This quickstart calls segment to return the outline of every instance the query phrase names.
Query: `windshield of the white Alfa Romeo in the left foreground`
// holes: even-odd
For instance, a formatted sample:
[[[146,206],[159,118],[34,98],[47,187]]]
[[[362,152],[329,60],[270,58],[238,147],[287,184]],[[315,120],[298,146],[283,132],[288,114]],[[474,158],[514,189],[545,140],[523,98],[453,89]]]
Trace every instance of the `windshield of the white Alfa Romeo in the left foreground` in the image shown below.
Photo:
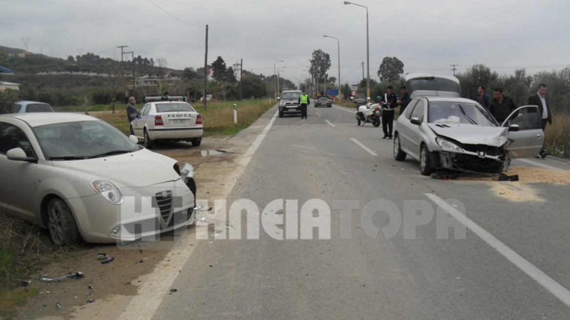
[[[103,121],[66,122],[38,126],[33,130],[48,160],[107,157],[141,149]]]

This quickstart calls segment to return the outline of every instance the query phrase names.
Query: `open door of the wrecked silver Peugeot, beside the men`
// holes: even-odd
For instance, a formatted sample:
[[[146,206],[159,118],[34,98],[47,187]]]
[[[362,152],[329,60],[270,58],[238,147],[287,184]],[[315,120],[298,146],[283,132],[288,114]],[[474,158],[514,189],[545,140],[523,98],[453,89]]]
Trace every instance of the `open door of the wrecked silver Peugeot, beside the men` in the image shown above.
[[[540,126],[541,117],[536,105],[525,105],[514,110],[503,126],[518,125],[518,131],[510,131],[507,138],[511,144],[507,147],[511,159],[533,158],[544,143],[544,132]]]

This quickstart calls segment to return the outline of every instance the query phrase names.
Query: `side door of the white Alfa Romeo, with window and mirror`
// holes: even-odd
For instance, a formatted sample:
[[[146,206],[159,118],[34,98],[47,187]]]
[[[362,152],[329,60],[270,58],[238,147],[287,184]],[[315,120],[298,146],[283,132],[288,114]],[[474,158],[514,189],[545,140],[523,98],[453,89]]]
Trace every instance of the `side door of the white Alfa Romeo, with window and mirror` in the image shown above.
[[[37,164],[9,160],[10,149],[22,148],[28,157],[36,158],[26,133],[17,125],[0,122],[0,207],[28,220],[35,219],[35,175]]]

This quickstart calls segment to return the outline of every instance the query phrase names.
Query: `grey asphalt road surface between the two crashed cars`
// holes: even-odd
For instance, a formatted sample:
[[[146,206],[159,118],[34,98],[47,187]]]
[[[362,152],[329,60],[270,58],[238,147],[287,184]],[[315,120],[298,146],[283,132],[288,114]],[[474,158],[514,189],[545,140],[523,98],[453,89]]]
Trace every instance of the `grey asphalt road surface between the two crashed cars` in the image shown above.
[[[210,232],[153,319],[570,319],[568,184],[531,184],[540,200],[507,200],[492,184],[508,182],[421,176],[417,162],[394,161],[393,141],[381,136],[336,106],[311,106],[308,120],[276,118],[227,199],[228,207],[250,199],[262,220],[276,221],[273,228],[247,240],[244,215],[242,240]],[[570,170],[554,159],[530,160],[512,165]],[[330,222],[323,210],[318,232],[282,227],[279,219],[297,215],[262,212],[278,199],[291,207],[296,200],[300,211],[320,199]],[[378,199],[372,207],[383,212],[367,219],[362,209]],[[341,215],[339,200],[357,210]],[[302,229],[311,216],[300,218]],[[391,232],[398,219],[395,234],[376,229]],[[275,239],[283,232],[303,239]]]

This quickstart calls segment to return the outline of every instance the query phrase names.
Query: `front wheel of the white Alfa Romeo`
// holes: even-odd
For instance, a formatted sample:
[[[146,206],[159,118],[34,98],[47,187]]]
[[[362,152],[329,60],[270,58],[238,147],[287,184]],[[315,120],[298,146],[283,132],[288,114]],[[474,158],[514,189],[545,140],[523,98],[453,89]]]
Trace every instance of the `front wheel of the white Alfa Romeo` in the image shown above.
[[[82,240],[70,208],[60,198],[47,204],[47,229],[51,242],[59,247],[76,245]]]

